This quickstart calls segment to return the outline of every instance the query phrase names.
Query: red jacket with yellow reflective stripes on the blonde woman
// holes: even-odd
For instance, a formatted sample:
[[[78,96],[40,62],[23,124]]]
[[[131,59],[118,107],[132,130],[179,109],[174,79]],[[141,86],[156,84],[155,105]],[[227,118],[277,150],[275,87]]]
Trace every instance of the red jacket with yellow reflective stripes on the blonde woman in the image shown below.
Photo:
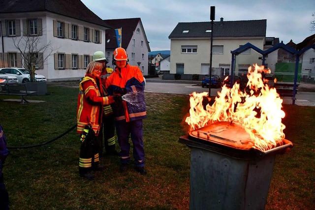
[[[114,102],[113,96],[104,96],[101,79],[86,74],[79,84],[77,105],[77,133],[82,134],[86,125],[91,124],[97,136],[101,126],[103,105]]]

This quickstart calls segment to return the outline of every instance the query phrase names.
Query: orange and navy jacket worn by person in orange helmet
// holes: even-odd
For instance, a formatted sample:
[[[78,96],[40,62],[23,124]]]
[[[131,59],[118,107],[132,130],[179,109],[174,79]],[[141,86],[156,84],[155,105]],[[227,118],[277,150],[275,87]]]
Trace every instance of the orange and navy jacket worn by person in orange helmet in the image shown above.
[[[147,117],[144,98],[144,78],[137,66],[127,64],[126,67],[115,71],[107,78],[106,90],[113,95],[118,88],[126,88],[133,103],[122,101],[116,106],[115,120],[140,120]]]

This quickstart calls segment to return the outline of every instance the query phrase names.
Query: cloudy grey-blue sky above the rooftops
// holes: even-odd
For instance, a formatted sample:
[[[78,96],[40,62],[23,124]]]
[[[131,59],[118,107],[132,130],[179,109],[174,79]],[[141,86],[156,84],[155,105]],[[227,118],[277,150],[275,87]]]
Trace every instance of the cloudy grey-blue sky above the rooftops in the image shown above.
[[[170,50],[169,34],[179,22],[267,19],[266,36],[285,44],[303,41],[315,33],[315,0],[82,0],[101,19],[141,18],[151,51]],[[124,37],[124,32],[122,34]]]

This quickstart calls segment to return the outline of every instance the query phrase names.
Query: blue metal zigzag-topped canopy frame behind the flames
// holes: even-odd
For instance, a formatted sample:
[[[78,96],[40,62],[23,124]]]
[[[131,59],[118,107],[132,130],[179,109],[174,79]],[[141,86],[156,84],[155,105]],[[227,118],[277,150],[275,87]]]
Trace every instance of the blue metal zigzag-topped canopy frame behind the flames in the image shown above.
[[[283,42],[273,46],[272,48],[263,51],[259,48],[257,48],[256,46],[252,45],[251,43],[247,43],[239,48],[237,48],[236,50],[231,51],[232,54],[232,62],[231,62],[231,75],[234,75],[234,67],[235,67],[235,57],[241,53],[243,53],[244,51],[248,50],[248,49],[253,49],[255,50],[257,53],[262,55],[262,65],[265,65],[265,58],[268,54],[282,48],[285,51],[293,54],[294,56],[296,56],[296,60],[295,60],[295,71],[294,71],[294,85],[293,85],[293,95],[292,95],[292,104],[295,104],[295,92],[296,92],[296,85],[297,85],[297,74],[298,74],[298,67],[299,67],[299,60],[300,60],[300,56],[305,53],[306,51],[308,51],[309,49],[313,48],[315,49],[315,44],[305,47],[300,51],[297,51],[287,45],[285,45]],[[230,77],[231,83],[233,84],[233,76]]]

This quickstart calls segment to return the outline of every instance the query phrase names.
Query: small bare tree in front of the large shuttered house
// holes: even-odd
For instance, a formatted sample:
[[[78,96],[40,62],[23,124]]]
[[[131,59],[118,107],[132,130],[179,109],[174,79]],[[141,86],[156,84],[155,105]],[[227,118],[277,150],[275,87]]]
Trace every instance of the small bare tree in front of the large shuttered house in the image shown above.
[[[22,56],[22,66],[30,71],[30,82],[36,82],[35,70],[41,68],[44,62],[51,56],[54,49],[51,41],[41,42],[42,35],[22,35],[13,37],[14,46]]]

